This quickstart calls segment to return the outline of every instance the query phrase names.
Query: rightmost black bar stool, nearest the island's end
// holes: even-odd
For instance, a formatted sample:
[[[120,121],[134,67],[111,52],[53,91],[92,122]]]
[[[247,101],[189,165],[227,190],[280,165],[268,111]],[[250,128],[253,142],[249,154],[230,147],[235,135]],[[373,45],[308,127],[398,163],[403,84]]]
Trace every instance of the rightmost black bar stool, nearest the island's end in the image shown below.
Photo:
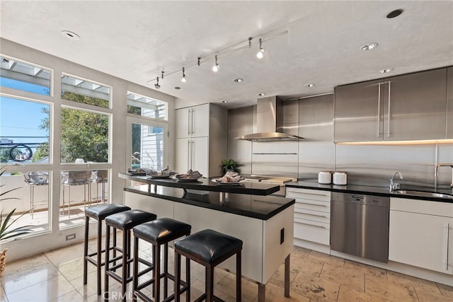
[[[214,267],[236,254],[236,301],[241,301],[241,250],[242,240],[217,231],[204,230],[175,242],[175,301],[180,301],[181,255],[203,265],[206,270],[205,294],[195,301],[222,301],[214,296]],[[189,274],[190,275],[190,274]],[[188,277],[190,278],[190,276]],[[190,279],[188,279],[190,280]],[[190,282],[188,283],[188,299]],[[189,300],[188,300],[189,301]]]

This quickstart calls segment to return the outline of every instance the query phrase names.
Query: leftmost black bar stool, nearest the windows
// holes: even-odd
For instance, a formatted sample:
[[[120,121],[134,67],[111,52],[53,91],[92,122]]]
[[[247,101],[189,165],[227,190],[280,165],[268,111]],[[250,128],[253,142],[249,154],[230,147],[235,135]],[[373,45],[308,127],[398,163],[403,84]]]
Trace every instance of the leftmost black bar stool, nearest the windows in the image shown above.
[[[98,295],[101,295],[101,267],[105,265],[105,262],[101,262],[101,255],[105,250],[102,249],[102,221],[105,217],[120,213],[122,211],[130,210],[130,207],[126,207],[122,204],[100,204],[96,207],[91,207],[85,210],[85,243],[84,243],[84,284],[87,284],[88,267],[87,262],[96,266],[97,281],[98,281]],[[98,221],[98,247],[96,252],[88,254],[88,231],[90,218]],[[113,233],[113,257],[116,257],[116,251],[122,252],[120,248],[116,246],[116,233]],[[96,256],[96,260],[92,257]]]

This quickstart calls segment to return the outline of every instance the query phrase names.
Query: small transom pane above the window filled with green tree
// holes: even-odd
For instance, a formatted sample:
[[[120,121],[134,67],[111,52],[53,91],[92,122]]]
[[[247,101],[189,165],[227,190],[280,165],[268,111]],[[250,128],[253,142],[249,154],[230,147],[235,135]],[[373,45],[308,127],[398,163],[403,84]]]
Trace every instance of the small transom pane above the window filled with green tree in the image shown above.
[[[110,88],[62,74],[62,99],[109,108]]]

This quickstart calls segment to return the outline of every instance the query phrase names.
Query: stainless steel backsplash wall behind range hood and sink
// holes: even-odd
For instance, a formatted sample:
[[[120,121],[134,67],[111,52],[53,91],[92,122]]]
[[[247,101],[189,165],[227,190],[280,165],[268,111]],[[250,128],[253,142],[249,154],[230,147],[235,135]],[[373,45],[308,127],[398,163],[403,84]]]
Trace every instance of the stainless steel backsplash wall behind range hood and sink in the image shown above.
[[[333,144],[333,95],[284,102],[285,125],[299,129],[304,141],[251,143],[234,139],[249,134],[254,106],[229,110],[228,156],[241,163],[241,173],[317,180],[319,170],[348,173],[348,184],[386,187],[395,171],[401,186],[432,187],[436,163],[453,163],[453,144],[349,145]],[[299,112],[298,122],[294,112]],[[284,118],[285,119],[285,118]],[[296,154],[294,154],[296,153]],[[451,172],[439,170],[438,184],[449,188]]]

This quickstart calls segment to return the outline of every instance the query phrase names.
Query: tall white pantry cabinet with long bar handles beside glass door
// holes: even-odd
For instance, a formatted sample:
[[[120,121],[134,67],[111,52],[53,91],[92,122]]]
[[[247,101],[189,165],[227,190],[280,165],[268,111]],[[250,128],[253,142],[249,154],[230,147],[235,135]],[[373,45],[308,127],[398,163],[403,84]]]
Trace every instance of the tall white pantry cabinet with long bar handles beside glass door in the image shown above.
[[[228,112],[215,104],[176,110],[176,171],[198,170],[205,177],[222,172],[227,155]]]

